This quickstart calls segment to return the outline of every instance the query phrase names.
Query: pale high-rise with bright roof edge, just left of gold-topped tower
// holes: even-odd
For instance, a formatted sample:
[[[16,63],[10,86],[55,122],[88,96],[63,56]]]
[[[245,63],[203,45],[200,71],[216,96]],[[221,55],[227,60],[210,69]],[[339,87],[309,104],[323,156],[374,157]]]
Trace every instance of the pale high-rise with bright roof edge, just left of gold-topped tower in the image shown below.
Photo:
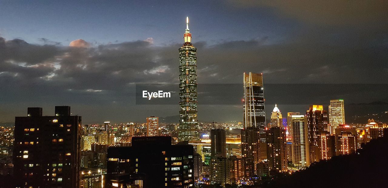
[[[307,117],[303,115],[291,115],[292,128],[292,162],[294,166],[310,166],[308,150],[308,125]]]

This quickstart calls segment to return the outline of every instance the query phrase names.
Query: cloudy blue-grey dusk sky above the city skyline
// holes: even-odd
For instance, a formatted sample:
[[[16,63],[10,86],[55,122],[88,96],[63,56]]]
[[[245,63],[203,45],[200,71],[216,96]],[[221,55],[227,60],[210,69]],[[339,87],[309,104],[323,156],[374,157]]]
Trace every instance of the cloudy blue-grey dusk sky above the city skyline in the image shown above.
[[[177,103],[140,105],[134,93],[136,84],[178,83],[186,16],[199,84],[241,84],[244,72],[262,72],[264,87],[377,84],[356,94],[326,85],[303,96],[306,103],[290,87],[271,87],[267,116],[276,101],[283,115],[304,114],[309,103],[327,108],[329,99],[388,102],[387,12],[379,0],[0,0],[0,121],[26,116],[27,107],[54,115],[55,105],[71,106],[84,124],[178,115]],[[226,87],[220,97],[242,92]],[[198,101],[200,121],[242,119],[242,105],[201,104],[201,93]],[[351,108],[360,107],[345,106],[347,116],[377,110]]]

